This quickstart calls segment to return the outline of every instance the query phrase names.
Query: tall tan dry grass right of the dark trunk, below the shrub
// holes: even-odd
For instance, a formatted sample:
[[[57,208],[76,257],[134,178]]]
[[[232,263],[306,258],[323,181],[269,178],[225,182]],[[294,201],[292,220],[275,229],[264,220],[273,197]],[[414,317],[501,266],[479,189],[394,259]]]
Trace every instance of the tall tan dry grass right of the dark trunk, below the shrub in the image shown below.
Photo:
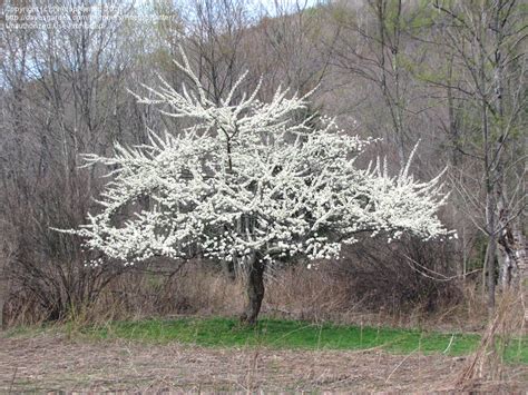
[[[427,303],[382,304],[373,308],[368,294],[361,294],[346,276],[332,269],[290,268],[268,278],[263,310],[282,318],[341,324],[427,328],[432,330],[480,332],[487,319],[486,305],[472,284],[461,285],[463,297],[456,304],[430,312]]]

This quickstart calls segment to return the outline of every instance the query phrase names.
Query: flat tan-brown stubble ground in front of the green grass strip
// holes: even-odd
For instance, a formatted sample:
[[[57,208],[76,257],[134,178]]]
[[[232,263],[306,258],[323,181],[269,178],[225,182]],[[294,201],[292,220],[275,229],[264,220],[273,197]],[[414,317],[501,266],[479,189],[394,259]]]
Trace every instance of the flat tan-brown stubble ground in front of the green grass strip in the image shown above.
[[[0,392],[431,392],[454,389],[451,383],[463,363],[463,358],[397,356],[379,349],[218,349],[42,334],[0,338]],[[481,388],[507,393],[528,388],[528,367],[512,366],[505,375],[505,382]]]

